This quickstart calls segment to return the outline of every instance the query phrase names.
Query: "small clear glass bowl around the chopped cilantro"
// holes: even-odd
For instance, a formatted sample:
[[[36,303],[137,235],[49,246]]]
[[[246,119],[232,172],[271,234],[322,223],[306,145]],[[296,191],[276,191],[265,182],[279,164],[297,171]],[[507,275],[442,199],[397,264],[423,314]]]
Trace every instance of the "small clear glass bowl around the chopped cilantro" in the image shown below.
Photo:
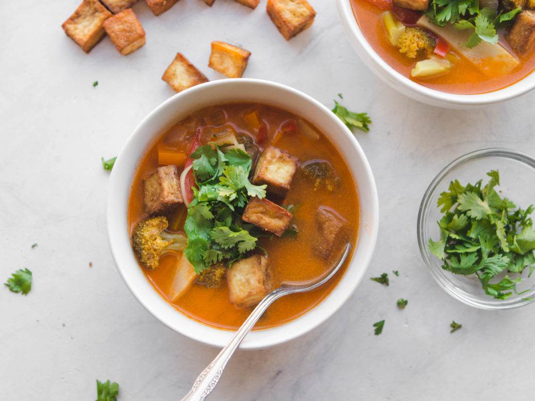
[[[529,269],[522,273],[524,279],[517,285],[522,294],[511,295],[506,300],[496,300],[485,294],[475,274],[463,276],[442,269],[442,261],[435,257],[427,243],[430,238],[438,240],[440,230],[437,222],[442,217],[437,207],[440,193],[447,191],[449,183],[458,179],[462,185],[476,183],[483,179],[484,184],[490,179],[486,174],[499,170],[501,196],[506,196],[517,207],[527,208],[535,204],[535,159],[525,153],[509,149],[491,148],[468,153],[450,163],[433,180],[424,194],[418,213],[418,246],[425,264],[438,284],[457,300],[480,309],[511,309],[527,305],[535,300],[535,273],[528,278]],[[487,179],[488,178],[488,179]],[[511,277],[517,277],[511,273]]]

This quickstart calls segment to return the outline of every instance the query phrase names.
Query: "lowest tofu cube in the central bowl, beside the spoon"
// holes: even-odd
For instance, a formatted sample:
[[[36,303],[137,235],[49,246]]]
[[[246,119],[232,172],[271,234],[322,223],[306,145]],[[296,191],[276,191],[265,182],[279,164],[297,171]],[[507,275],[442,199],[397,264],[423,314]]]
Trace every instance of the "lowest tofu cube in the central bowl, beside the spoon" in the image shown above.
[[[262,301],[272,291],[268,257],[253,255],[232,264],[227,272],[228,298],[236,308],[247,308]]]

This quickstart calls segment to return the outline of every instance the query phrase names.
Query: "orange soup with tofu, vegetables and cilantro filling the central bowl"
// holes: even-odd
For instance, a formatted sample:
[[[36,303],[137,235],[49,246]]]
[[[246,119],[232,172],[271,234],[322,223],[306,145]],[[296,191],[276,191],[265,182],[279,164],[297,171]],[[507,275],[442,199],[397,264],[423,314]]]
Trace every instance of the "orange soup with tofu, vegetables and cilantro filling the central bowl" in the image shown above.
[[[353,177],[337,149],[283,109],[210,106],[151,145],[128,205],[140,268],[186,316],[239,327],[282,281],[324,273],[358,234]],[[342,272],[274,302],[256,328],[284,324],[321,302]]]

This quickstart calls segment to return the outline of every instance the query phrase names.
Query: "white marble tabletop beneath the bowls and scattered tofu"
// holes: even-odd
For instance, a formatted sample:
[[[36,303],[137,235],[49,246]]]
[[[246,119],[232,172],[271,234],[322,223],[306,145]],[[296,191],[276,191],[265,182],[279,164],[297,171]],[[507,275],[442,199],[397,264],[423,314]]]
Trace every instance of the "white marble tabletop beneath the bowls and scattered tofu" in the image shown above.
[[[246,77],[327,106],[342,92],[351,109],[370,113],[371,132],[356,136],[375,171],[381,221],[366,277],[400,271],[389,287],[366,278],[314,332],[239,352],[212,399],[533,399],[533,306],[486,312],[448,296],[419,256],[416,217],[426,186],[456,156],[489,146],[535,153],[535,93],[479,111],[418,104],[357,58],[334,2],[310,2],[314,26],[286,42],[265,0],[255,11],[181,0],[158,18],[140,1],[147,45],[128,57],[108,38],[87,55],[64,35],[78,0],[0,3],[9,15],[0,28],[0,279],[34,273],[26,297],[0,288],[0,399],[91,400],[98,378],[120,383],[121,400],[175,400],[215,356],[159,323],[123,284],[106,239],[100,164],[173,95],[160,77],[175,52],[221,78],[206,66],[212,40],[253,52]],[[399,297],[409,300],[402,312]],[[384,332],[374,336],[380,319]],[[452,319],[463,324],[454,334]]]

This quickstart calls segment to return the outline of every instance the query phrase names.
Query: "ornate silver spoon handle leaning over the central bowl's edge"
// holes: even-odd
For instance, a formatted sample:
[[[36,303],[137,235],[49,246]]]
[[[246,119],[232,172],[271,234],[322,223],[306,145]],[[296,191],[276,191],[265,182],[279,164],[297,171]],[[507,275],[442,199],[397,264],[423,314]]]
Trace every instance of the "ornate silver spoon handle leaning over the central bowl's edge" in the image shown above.
[[[284,288],[277,288],[272,293],[266,295],[264,299],[251,312],[249,317],[243,322],[241,327],[236,331],[232,340],[225,345],[225,348],[219,352],[217,357],[210,362],[210,364],[198,375],[197,380],[193,383],[193,387],[188,394],[181,401],[203,401],[216,388],[221,374],[231,359],[234,351],[243,341],[243,338],[249,333],[251,328],[256,324],[258,319],[262,316],[268,306],[281,296],[286,295],[287,290]]]

